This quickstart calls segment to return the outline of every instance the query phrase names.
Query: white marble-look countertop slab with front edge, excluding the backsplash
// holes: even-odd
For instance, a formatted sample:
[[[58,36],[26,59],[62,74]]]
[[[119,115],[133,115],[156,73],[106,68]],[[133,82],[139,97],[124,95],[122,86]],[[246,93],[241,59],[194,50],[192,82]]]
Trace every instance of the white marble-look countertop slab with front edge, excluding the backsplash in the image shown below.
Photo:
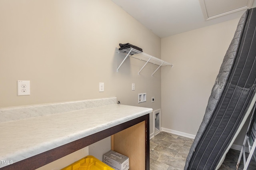
[[[13,163],[114,127],[152,109],[106,105],[0,123],[0,160]],[[0,162],[0,168],[7,166]]]

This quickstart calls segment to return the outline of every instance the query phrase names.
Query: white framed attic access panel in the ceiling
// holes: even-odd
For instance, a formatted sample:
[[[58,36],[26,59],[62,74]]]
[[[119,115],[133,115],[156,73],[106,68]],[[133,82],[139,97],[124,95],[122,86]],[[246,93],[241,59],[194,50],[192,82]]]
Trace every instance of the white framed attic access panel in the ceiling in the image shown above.
[[[254,0],[199,0],[205,20],[252,7]]]

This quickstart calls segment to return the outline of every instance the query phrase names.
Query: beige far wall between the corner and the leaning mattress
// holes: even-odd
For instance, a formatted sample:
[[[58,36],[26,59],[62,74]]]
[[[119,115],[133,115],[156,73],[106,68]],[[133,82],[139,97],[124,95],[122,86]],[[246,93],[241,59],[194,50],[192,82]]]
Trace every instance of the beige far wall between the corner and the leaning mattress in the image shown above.
[[[162,127],[196,134],[238,21],[162,38]]]

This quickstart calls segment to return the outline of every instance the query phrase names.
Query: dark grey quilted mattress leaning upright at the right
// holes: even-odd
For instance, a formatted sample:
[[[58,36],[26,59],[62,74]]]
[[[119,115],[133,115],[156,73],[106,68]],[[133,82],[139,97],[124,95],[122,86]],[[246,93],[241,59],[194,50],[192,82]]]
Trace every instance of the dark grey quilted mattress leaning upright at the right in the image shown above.
[[[184,170],[214,170],[248,112],[256,87],[256,8],[244,12],[224,56]],[[218,49],[216,49],[218,50]]]

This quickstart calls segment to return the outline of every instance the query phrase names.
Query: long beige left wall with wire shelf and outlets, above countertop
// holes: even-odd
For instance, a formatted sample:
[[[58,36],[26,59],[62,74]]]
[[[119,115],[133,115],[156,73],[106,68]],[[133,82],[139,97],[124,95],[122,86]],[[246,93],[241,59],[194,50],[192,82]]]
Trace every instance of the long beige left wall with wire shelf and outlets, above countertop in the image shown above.
[[[116,96],[121,104],[160,109],[156,65],[138,75],[144,62],[128,58],[116,72],[125,55],[115,51],[128,42],[160,58],[160,38],[111,0],[1,0],[0,107]],[[17,96],[17,80],[30,80],[30,96]],[[146,103],[138,104],[138,93],[147,93]]]

